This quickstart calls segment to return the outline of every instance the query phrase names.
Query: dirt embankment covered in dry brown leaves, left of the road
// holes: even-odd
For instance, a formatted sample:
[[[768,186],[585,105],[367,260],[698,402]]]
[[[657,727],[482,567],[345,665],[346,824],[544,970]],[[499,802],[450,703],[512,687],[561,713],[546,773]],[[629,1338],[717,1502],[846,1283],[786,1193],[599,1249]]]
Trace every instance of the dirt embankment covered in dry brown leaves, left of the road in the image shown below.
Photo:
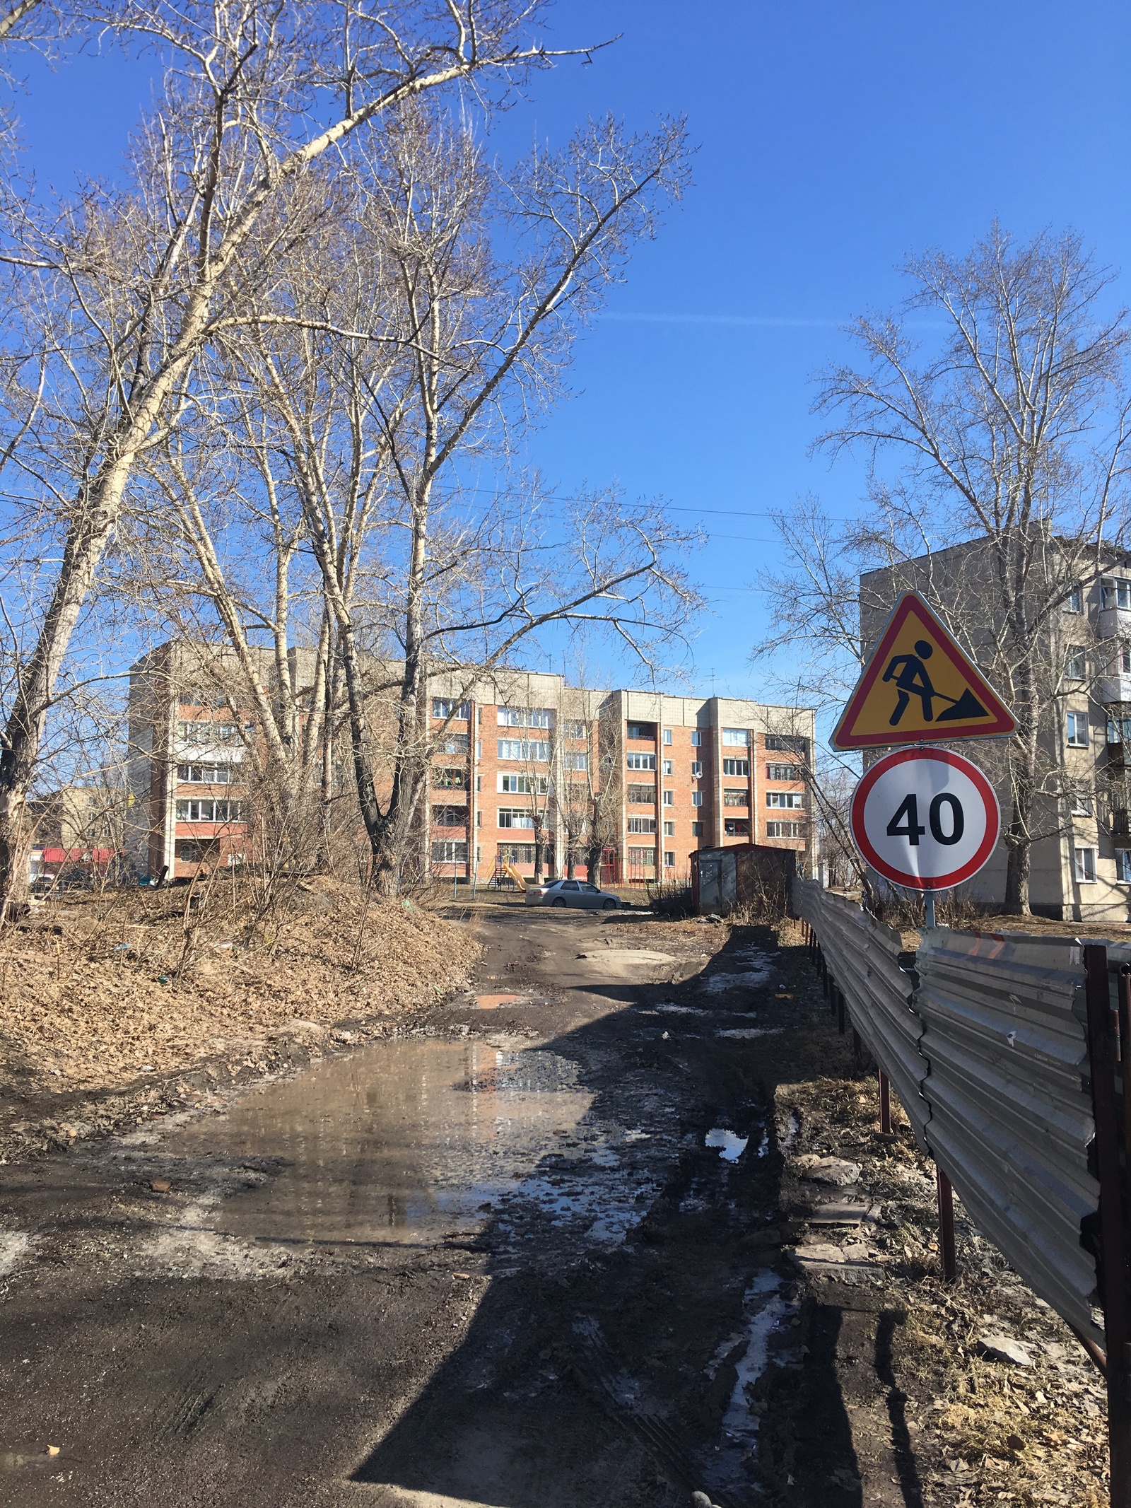
[[[330,879],[270,926],[184,890],[35,908],[0,932],[0,1157],[69,1145],[309,1060],[466,983],[470,930]]]

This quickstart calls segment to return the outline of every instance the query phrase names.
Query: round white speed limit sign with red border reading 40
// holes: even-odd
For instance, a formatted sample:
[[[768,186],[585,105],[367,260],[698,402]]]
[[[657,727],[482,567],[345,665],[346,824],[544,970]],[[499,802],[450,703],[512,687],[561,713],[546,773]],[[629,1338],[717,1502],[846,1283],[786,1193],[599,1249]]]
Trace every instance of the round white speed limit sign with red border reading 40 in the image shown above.
[[[852,838],[885,879],[947,890],[977,875],[994,852],[1001,816],[994,787],[947,749],[896,749],[852,793]]]

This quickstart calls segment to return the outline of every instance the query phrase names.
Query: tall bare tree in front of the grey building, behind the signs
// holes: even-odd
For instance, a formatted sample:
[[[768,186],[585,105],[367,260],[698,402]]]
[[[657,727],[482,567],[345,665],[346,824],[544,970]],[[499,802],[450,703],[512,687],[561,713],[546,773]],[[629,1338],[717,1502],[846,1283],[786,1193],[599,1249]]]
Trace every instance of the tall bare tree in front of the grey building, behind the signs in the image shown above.
[[[906,273],[902,314],[851,327],[864,365],[826,371],[817,400],[834,421],[817,443],[866,455],[872,510],[837,526],[810,502],[780,520],[792,569],[766,582],[777,627],[760,651],[805,644],[843,686],[894,596],[923,591],[1018,719],[1004,905],[1027,914],[1031,844],[1059,820],[1057,614],[1122,553],[1131,329],[1104,312],[1111,273],[1071,234],[1016,244],[994,226],[967,256]],[[927,351],[924,311],[941,321]]]

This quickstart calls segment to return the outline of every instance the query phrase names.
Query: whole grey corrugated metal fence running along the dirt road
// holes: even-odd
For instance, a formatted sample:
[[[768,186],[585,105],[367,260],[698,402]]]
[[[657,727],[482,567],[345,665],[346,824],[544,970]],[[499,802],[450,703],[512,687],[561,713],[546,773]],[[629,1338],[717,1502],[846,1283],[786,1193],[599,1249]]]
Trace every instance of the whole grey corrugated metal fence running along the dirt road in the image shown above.
[[[814,881],[793,882],[852,1025],[888,1075],[920,1145],[979,1231],[1098,1345],[1096,1264],[1081,1246],[1099,1184],[1084,958],[1074,938],[935,927],[899,933]]]

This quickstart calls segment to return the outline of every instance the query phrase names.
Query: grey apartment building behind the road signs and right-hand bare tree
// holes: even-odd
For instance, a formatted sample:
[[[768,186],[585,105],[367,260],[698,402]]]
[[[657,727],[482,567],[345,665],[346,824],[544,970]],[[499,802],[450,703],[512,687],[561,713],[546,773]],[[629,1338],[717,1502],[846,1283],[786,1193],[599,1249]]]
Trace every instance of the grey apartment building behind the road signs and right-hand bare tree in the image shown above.
[[[861,576],[866,650],[879,639],[899,593],[918,588],[929,600],[962,602],[977,657],[979,636],[989,641],[994,632],[970,606],[986,561],[985,543],[974,540]],[[1125,923],[1131,920],[1131,559],[1120,564],[1113,556],[1108,570],[1081,581],[1039,632],[1056,692],[1054,716],[1041,736],[1050,789],[1034,810],[1033,828],[1042,835],[1031,847],[1030,905],[1059,921]],[[1004,826],[1009,789],[1001,757],[986,743],[956,748],[994,781]],[[973,899],[997,905],[1004,888],[1006,851],[998,843],[968,890]]]

